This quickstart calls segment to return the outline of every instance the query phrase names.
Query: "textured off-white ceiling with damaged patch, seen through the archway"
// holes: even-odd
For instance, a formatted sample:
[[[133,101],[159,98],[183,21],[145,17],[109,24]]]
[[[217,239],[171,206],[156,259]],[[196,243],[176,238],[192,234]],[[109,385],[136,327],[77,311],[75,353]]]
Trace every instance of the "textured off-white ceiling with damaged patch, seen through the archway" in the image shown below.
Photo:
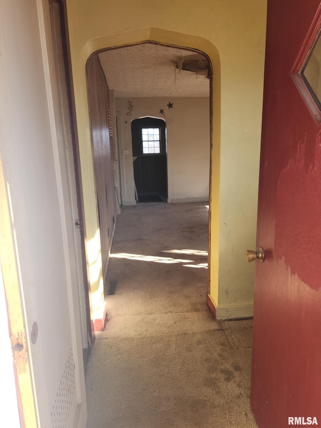
[[[116,97],[208,97],[210,79],[176,68],[192,51],[145,43],[99,53]]]

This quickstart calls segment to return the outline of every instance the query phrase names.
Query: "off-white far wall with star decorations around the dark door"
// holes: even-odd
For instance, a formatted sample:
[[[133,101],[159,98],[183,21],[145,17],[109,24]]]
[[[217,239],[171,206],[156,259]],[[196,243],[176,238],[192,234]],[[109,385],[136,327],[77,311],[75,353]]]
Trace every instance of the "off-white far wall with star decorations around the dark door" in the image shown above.
[[[168,201],[208,201],[210,173],[209,98],[116,98],[121,160],[122,202],[134,204],[131,121],[152,116],[165,119],[167,127]],[[127,111],[127,101],[133,109]],[[173,108],[167,104],[173,103]],[[159,113],[164,109],[164,115]],[[123,154],[123,151],[128,154]]]

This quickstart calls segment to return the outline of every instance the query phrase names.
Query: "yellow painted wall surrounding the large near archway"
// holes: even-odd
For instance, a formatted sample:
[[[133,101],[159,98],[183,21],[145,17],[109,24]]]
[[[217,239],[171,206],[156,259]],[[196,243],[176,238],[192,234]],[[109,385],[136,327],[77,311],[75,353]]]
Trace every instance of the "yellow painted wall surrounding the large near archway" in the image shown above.
[[[244,262],[243,253],[254,248],[256,240],[266,0],[67,0],[67,11],[89,263],[97,263],[99,242],[86,93],[88,56],[146,40],[198,49],[209,56],[214,73],[211,297],[218,318],[251,315],[254,266]],[[91,276],[92,290],[97,279]]]

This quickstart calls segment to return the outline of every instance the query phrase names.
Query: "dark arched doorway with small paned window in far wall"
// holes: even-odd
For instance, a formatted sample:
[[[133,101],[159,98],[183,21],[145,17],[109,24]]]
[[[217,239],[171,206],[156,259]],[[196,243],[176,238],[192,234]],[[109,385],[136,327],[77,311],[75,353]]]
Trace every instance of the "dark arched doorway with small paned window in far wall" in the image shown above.
[[[165,120],[155,117],[132,120],[131,142],[138,202],[167,202]]]

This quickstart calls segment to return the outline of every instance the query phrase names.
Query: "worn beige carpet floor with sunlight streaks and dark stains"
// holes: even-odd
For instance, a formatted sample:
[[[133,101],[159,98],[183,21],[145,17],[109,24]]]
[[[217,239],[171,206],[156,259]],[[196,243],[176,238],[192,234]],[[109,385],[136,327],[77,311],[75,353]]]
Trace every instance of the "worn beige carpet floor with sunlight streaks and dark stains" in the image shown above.
[[[252,321],[206,306],[205,203],[125,208],[107,324],[86,365],[87,428],[252,428]]]

